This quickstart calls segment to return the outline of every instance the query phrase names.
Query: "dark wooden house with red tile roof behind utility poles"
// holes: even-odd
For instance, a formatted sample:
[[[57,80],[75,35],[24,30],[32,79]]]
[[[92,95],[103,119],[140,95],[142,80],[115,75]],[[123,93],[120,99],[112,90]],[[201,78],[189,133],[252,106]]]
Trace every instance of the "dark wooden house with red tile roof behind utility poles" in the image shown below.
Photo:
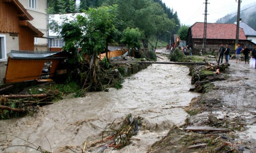
[[[220,44],[228,44],[235,52],[236,24],[207,23],[206,52],[218,51]],[[203,47],[204,23],[196,22],[188,29],[188,46],[193,53],[199,53]],[[239,44],[252,49],[254,43],[247,40],[242,28],[239,28]]]

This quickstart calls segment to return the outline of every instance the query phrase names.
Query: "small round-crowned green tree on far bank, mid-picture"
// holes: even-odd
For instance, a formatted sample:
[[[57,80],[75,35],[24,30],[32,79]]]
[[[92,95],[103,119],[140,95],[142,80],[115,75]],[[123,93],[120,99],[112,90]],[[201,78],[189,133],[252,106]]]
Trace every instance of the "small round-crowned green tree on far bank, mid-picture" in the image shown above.
[[[127,27],[123,32],[123,38],[121,42],[127,45],[128,48],[128,56],[130,56],[130,47],[132,50],[135,47],[140,47],[141,33],[138,28],[130,28]]]

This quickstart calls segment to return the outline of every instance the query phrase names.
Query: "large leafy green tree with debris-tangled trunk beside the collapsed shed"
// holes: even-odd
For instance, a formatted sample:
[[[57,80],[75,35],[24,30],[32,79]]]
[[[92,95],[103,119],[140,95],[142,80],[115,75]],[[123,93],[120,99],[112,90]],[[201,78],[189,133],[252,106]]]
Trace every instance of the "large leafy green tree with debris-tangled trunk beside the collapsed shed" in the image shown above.
[[[105,50],[107,57],[107,44],[118,33],[116,10],[117,5],[89,8],[71,21],[63,20],[60,35],[65,41],[63,49],[72,55],[69,62],[89,65],[88,71],[83,73],[87,76],[81,80],[82,88],[97,85],[98,54]]]

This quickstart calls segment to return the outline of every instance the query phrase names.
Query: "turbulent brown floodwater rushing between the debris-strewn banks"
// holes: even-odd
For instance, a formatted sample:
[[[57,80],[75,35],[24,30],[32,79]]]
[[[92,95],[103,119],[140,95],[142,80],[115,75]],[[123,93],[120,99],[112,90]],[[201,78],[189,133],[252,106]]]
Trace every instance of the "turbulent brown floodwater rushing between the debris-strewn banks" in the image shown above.
[[[184,123],[187,114],[183,108],[198,95],[188,92],[191,87],[188,73],[186,66],[153,64],[125,79],[120,90],[111,88],[109,92],[64,99],[40,108],[34,117],[1,120],[0,148],[29,145],[6,135],[12,134],[50,151],[46,135],[53,152],[71,152],[68,146],[76,146],[73,150],[81,152],[79,146],[83,148],[85,141],[101,137],[102,129],[96,126],[109,127],[114,119],[118,123],[132,113],[143,117],[146,126],[132,137],[129,146],[120,151],[106,149],[105,152],[146,152],[150,145],[167,134],[171,126]],[[0,150],[14,151],[35,152],[27,147]]]

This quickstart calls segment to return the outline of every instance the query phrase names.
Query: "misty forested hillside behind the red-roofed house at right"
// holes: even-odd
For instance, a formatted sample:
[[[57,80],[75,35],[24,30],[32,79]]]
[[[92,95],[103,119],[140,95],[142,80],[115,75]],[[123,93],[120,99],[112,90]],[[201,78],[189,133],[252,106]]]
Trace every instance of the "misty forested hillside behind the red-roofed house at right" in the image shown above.
[[[244,23],[246,23],[250,27],[254,28],[254,30],[256,30],[255,14],[256,14],[256,6],[246,9],[246,10],[242,11],[240,14],[240,18],[242,18]],[[228,17],[220,18],[216,21],[216,23],[235,23],[237,21],[237,14],[230,15],[230,16],[229,16],[229,14],[227,14],[226,16],[228,16]]]

